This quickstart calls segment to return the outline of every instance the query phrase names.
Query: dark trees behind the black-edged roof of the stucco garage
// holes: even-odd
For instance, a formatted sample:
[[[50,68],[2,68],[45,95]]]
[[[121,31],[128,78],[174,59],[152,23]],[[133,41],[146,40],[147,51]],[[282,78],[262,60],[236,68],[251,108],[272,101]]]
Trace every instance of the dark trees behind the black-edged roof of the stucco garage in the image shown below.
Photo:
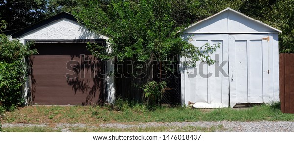
[[[0,21],[8,23],[6,31],[21,29],[63,11],[72,12],[82,2],[83,0],[0,0]]]

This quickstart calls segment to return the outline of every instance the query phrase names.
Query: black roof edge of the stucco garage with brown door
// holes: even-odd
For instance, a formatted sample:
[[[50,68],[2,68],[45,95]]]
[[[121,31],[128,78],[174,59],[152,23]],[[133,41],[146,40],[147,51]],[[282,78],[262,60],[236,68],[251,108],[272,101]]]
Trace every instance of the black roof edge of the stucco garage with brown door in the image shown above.
[[[54,15],[54,16],[46,19],[46,20],[42,20],[42,21],[37,22],[35,24],[32,24],[32,25],[30,25],[28,27],[25,27],[24,29],[13,33],[11,36],[13,38],[21,37],[21,36],[25,35],[26,33],[31,32],[32,30],[38,29],[38,28],[43,27],[43,26],[45,26],[45,25],[47,25],[49,23],[55,22],[55,21],[63,19],[63,18],[66,18],[66,19],[73,20],[73,21],[77,22],[77,19],[72,14],[67,13],[67,12],[62,12],[62,13]]]

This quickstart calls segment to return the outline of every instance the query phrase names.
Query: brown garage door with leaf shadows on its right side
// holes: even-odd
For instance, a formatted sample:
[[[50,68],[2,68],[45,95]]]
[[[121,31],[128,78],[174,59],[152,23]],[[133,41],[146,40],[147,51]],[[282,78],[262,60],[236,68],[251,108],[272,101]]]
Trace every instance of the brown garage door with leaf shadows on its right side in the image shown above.
[[[93,105],[104,101],[103,63],[85,43],[36,44],[31,56],[33,104]]]

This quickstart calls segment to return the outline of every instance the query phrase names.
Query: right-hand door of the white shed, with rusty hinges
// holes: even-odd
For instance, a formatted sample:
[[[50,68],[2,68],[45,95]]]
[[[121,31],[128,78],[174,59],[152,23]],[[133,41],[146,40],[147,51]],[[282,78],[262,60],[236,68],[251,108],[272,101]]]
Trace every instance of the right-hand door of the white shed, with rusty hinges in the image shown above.
[[[268,34],[229,35],[230,105],[261,103],[269,91]]]

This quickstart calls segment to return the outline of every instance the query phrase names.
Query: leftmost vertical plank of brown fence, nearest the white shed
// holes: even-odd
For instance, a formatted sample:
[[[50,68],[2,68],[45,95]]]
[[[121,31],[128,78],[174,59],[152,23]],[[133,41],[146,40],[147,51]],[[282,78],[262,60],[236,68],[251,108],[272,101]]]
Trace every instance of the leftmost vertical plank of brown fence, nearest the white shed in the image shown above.
[[[279,72],[280,72],[280,102],[281,102],[281,111],[285,113],[285,63],[284,63],[285,54],[281,53],[279,55]]]

